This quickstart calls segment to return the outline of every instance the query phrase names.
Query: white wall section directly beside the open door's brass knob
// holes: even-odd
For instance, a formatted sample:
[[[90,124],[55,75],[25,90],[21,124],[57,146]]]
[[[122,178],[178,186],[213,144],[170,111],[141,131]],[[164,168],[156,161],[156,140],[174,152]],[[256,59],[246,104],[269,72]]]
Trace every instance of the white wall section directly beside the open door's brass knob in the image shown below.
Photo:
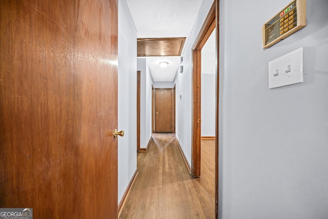
[[[137,169],[137,33],[126,1],[118,1],[118,202]]]

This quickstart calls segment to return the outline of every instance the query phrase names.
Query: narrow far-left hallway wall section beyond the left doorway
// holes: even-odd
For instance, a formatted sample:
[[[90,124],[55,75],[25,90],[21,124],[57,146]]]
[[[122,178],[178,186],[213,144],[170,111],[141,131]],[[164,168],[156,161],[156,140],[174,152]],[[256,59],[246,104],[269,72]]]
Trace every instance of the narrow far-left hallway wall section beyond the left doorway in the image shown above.
[[[147,148],[152,135],[151,109],[153,78],[146,58],[137,58],[137,70],[140,71],[140,148]]]

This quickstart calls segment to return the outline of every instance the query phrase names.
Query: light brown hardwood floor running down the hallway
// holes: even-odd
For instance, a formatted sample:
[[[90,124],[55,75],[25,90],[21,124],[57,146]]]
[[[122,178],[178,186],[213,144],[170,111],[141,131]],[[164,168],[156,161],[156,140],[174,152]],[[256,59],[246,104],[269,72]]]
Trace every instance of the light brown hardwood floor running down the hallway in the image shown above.
[[[201,177],[193,178],[174,134],[153,134],[138,153],[138,175],[119,218],[214,218],[214,140],[202,140]]]

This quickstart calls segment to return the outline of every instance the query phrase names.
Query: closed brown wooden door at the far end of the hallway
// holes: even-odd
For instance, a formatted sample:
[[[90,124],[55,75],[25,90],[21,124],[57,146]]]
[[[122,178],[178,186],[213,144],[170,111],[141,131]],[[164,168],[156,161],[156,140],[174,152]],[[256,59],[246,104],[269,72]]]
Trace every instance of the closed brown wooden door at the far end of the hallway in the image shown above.
[[[173,132],[173,89],[155,88],[155,132]]]

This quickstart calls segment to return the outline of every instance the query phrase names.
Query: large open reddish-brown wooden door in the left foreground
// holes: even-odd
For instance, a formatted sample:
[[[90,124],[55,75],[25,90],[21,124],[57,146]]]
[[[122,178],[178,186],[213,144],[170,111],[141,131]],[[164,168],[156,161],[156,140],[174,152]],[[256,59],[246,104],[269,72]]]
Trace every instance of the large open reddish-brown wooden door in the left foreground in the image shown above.
[[[117,0],[2,0],[0,62],[0,207],[117,218]]]

